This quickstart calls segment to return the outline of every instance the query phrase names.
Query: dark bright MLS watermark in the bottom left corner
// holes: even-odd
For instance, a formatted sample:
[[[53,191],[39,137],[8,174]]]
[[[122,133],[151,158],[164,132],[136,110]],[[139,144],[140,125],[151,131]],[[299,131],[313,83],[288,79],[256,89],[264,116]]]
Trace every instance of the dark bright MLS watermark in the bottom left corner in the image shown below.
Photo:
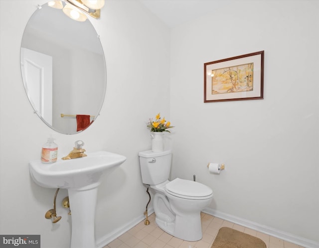
[[[40,235],[0,235],[0,248],[40,248]]]

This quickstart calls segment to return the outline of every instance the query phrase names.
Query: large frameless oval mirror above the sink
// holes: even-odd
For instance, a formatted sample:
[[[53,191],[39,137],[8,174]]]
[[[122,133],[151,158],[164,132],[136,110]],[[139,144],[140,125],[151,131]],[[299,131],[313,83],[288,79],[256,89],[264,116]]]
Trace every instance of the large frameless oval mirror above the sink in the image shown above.
[[[25,92],[45,124],[73,134],[97,118],[105,97],[106,66],[89,19],[76,21],[62,9],[38,6],[23,33],[20,62]]]

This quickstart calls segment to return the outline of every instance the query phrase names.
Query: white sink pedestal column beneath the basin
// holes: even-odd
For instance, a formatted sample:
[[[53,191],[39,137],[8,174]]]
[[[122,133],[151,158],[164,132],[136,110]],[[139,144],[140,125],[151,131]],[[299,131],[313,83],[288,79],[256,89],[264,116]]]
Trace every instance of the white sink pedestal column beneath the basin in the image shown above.
[[[72,220],[71,248],[96,248],[94,220],[97,192],[97,186],[68,189]]]

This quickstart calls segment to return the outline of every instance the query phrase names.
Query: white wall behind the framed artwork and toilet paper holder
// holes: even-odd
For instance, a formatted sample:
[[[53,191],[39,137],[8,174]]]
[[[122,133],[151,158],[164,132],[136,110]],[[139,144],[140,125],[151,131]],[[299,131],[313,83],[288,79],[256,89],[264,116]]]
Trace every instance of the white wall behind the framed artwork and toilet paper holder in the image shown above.
[[[319,2],[215,6],[171,31],[172,177],[209,185],[208,211],[318,245]],[[205,62],[261,50],[263,100],[203,103]]]

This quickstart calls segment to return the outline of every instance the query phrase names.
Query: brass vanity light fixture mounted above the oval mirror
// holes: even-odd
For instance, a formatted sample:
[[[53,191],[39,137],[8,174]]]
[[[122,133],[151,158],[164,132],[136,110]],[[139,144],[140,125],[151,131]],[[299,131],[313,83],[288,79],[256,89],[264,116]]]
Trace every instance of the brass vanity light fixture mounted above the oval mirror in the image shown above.
[[[94,18],[100,18],[100,9],[104,6],[105,0],[66,0],[73,6],[88,13]]]

